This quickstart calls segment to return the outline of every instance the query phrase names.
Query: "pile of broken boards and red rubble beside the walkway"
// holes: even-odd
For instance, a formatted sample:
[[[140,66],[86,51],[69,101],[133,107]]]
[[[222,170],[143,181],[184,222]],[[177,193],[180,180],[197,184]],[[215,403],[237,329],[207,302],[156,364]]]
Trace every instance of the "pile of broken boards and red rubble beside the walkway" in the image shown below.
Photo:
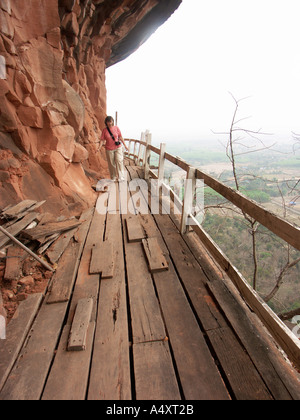
[[[82,223],[37,212],[44,203],[24,200],[0,212],[0,311],[8,319],[28,294],[45,291]]]

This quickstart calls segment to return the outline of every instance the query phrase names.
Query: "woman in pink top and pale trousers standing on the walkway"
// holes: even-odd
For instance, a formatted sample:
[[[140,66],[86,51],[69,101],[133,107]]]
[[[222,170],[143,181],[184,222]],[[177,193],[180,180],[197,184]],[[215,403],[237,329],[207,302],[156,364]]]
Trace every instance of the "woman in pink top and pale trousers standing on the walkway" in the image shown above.
[[[113,181],[124,181],[122,144],[126,150],[128,150],[128,147],[124,142],[121,130],[115,125],[113,117],[106,117],[105,125],[106,128],[104,128],[101,136],[100,149],[104,144],[111,179]]]

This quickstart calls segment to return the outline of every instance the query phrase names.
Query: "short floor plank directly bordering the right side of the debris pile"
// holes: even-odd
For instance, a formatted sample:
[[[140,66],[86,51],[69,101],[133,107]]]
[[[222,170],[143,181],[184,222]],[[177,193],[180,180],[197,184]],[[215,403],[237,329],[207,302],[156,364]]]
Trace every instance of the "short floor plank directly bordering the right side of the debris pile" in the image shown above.
[[[77,274],[81,244],[70,242],[53,276],[47,303],[67,302]]]

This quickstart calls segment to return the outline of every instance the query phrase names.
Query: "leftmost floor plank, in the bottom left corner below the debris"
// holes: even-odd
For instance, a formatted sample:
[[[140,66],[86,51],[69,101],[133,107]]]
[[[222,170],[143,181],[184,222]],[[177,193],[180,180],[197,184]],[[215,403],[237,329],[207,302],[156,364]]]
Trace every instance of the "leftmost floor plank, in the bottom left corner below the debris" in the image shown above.
[[[20,353],[42,298],[43,294],[37,293],[22,301],[6,328],[6,339],[0,340],[0,390]]]

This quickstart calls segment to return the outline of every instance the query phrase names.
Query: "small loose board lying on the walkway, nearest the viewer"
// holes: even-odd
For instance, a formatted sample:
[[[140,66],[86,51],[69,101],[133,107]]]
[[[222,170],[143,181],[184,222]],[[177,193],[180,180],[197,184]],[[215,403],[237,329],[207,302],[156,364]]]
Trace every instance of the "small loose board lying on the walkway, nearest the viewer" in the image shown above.
[[[68,351],[82,351],[86,349],[86,338],[93,305],[93,299],[80,299],[78,301],[70,331]]]

